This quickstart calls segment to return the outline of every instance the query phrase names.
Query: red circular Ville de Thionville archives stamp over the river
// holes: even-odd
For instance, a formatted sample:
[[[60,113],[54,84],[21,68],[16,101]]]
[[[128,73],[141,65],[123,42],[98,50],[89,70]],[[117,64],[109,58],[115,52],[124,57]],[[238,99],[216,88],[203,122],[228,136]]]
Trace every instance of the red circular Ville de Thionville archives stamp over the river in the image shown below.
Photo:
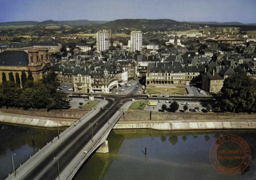
[[[251,151],[247,142],[237,135],[228,134],[219,137],[210,149],[210,161],[213,167],[225,175],[235,175],[244,171],[250,158]]]

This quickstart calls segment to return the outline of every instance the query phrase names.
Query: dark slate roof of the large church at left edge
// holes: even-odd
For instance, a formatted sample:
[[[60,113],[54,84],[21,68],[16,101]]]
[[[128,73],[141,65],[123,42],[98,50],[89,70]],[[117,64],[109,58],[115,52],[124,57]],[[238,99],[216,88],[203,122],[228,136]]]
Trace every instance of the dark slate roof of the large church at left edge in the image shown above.
[[[1,66],[28,66],[28,53],[25,51],[3,51],[0,53]]]

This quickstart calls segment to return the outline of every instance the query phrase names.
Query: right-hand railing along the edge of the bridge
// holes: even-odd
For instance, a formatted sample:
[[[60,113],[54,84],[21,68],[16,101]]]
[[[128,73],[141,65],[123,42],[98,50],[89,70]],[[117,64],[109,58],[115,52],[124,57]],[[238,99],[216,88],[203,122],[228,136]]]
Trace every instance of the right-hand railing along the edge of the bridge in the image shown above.
[[[77,165],[75,166],[75,168],[73,169],[73,171],[68,175],[68,177],[66,178],[66,180],[71,179],[75,172],[78,171],[78,169],[80,168],[80,166],[83,164],[83,162],[87,159],[87,157],[92,153],[92,151],[97,147],[98,143],[101,141],[102,138],[104,138],[104,136],[106,135],[107,132],[109,132],[109,130],[111,130],[115,124],[117,123],[117,121],[121,118],[121,116],[123,115],[124,111],[120,111],[120,114],[115,118],[115,120],[113,120],[112,123],[109,124],[109,126],[107,127],[107,129],[102,133],[102,135],[97,139],[97,141],[94,142],[94,144],[90,147],[90,149],[88,150],[88,153],[84,155],[84,157],[77,163]]]

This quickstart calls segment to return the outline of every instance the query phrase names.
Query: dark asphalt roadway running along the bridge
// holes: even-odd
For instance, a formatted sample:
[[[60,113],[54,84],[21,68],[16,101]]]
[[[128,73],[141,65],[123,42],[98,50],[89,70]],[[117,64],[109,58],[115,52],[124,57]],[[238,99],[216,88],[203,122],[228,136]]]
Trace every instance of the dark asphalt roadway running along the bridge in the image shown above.
[[[118,111],[119,102],[117,99],[108,99],[109,103],[104,107],[109,109],[109,117]],[[123,98],[121,98],[123,101]],[[37,165],[35,165],[22,180],[49,180],[58,177],[57,159],[58,157],[60,172],[66,167],[66,165],[80,152],[87,142],[91,141],[92,127],[93,132],[96,134],[101,127],[108,120],[108,110],[101,110],[84,123],[80,128],[73,132],[68,138],[64,139],[61,144],[54,148],[49,154],[47,154]],[[96,122],[98,125],[96,126]],[[61,135],[60,135],[61,136]]]

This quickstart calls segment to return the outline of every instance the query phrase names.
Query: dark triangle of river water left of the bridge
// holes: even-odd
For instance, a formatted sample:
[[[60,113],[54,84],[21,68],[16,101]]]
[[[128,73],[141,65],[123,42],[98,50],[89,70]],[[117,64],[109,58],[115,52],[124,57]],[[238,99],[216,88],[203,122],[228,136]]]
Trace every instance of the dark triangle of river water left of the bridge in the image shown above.
[[[66,127],[60,128],[60,131],[64,129]],[[18,168],[57,135],[56,128],[43,129],[0,124],[0,179],[5,179],[13,171],[13,153],[16,154],[13,156],[14,168]],[[34,140],[34,146],[32,140]]]

